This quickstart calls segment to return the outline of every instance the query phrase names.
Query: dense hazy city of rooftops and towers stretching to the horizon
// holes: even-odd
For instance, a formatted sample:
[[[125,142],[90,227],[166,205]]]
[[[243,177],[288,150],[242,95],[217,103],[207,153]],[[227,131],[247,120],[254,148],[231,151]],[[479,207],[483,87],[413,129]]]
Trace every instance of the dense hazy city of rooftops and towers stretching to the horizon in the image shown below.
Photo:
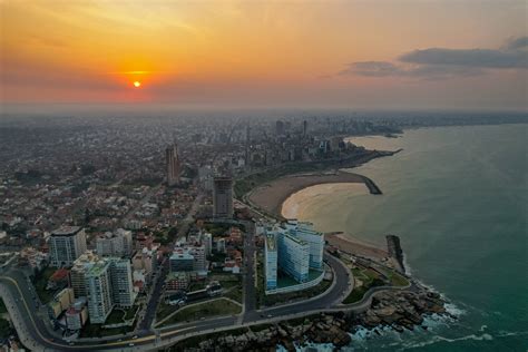
[[[28,319],[41,324],[17,329],[18,338],[6,340],[11,349],[95,349],[94,339],[104,339],[107,348],[144,342],[137,346],[148,350],[188,338],[175,333],[180,327],[199,335],[281,321],[305,312],[311,300],[325,309],[349,300],[346,270],[325,254],[339,246],[325,250],[312,224],[271,214],[246,196],[284,175],[391,155],[346,137],[398,137],[412,124],[352,116],[217,119],[217,126],[49,118],[47,127],[32,126],[40,118],[22,127],[8,118],[1,128],[2,280],[22,296],[4,304],[10,313],[22,310],[11,314],[14,326]],[[383,264],[363,260],[359,267],[404,273],[398,246]],[[395,275],[383,274],[389,282]]]

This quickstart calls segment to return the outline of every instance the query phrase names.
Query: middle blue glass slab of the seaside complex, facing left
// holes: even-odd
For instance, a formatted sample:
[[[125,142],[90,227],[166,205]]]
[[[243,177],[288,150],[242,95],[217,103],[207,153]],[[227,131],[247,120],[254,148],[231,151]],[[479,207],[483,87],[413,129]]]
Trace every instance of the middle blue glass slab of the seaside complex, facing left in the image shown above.
[[[297,282],[305,282],[310,272],[310,244],[286,232],[277,233],[278,266]]]

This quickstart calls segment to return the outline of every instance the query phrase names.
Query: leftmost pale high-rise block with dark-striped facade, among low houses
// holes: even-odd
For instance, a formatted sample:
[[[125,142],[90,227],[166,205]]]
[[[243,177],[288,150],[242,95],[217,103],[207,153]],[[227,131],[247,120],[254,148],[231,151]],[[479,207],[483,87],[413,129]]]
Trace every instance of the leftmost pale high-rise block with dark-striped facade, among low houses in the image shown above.
[[[79,226],[62,226],[49,237],[51,266],[71,266],[85,251],[86,234]]]

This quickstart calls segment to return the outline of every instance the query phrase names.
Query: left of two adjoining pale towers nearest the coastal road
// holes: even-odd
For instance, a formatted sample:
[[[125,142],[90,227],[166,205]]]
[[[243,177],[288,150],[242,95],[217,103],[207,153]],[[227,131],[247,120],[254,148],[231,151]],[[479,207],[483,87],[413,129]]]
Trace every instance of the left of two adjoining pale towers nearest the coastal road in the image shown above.
[[[114,307],[110,262],[94,263],[85,273],[90,323],[102,324]]]

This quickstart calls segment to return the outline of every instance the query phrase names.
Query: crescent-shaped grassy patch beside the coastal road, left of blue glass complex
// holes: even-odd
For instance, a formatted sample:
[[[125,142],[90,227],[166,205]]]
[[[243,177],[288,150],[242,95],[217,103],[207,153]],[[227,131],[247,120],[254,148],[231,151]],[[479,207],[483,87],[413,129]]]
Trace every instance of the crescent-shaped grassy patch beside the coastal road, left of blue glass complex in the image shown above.
[[[164,325],[172,325],[185,321],[196,321],[202,317],[232,315],[242,312],[242,307],[228,300],[204,302],[182,307],[176,314],[168,319]]]

